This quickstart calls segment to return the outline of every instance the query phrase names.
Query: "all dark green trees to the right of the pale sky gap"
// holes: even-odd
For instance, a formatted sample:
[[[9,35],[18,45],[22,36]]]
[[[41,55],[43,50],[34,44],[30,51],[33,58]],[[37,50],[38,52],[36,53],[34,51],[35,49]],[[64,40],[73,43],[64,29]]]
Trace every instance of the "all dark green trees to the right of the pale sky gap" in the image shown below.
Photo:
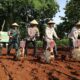
[[[80,20],[80,0],[70,0],[65,7],[65,17],[61,17],[63,20],[58,26],[58,33],[61,37],[64,37],[64,33],[69,33],[71,28]]]

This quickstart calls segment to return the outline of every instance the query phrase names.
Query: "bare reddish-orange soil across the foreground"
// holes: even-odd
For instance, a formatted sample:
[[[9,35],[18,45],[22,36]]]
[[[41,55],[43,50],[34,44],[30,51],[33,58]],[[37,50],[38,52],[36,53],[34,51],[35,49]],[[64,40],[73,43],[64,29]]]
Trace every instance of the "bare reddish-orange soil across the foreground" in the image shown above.
[[[1,56],[0,80],[80,80],[80,62],[61,60],[61,55],[68,51],[59,50],[59,59],[51,64],[35,59],[32,56],[33,49],[28,52],[24,62]]]

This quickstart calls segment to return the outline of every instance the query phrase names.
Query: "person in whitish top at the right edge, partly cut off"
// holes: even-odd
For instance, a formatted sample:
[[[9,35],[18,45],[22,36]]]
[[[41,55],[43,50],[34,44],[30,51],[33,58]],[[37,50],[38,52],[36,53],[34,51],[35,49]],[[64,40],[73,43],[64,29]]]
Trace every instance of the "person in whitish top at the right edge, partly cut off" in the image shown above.
[[[80,35],[80,21],[72,28],[71,32],[68,35],[71,53],[72,50],[76,48],[76,41],[78,40],[79,35]]]

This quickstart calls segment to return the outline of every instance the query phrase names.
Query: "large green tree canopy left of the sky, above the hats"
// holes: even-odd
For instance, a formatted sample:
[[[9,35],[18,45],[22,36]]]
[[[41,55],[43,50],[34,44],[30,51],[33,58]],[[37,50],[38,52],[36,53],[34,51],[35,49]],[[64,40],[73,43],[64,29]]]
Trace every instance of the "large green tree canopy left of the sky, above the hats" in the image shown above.
[[[5,30],[13,22],[29,23],[32,19],[52,18],[58,11],[55,0],[0,0],[0,26],[5,19]],[[21,25],[21,24],[20,24]]]

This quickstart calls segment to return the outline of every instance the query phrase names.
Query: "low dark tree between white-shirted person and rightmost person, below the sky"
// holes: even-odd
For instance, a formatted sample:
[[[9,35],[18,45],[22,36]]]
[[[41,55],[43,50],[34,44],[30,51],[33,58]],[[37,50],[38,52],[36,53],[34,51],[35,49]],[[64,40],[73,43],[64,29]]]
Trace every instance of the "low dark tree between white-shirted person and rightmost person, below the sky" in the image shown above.
[[[57,25],[57,33],[60,38],[64,38],[71,31],[72,24],[67,20],[67,17],[61,17],[61,19],[63,22]]]

